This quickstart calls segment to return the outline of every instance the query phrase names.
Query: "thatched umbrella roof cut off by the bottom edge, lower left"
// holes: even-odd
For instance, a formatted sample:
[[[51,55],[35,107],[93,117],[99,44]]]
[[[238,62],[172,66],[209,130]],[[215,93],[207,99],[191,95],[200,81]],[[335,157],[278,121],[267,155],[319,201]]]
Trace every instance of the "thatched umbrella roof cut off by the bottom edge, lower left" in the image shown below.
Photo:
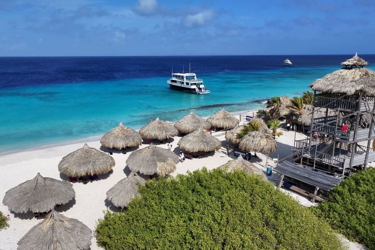
[[[89,250],[92,231],[82,222],[52,210],[18,241],[17,250]]]

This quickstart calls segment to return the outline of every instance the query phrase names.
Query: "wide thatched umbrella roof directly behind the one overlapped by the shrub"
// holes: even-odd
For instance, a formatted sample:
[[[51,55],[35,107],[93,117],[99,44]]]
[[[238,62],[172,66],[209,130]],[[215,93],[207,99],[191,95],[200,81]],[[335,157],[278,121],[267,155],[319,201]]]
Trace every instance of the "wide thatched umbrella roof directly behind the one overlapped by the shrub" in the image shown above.
[[[157,174],[163,177],[173,172],[177,163],[177,154],[153,144],[132,152],[126,160],[131,171],[145,175]]]

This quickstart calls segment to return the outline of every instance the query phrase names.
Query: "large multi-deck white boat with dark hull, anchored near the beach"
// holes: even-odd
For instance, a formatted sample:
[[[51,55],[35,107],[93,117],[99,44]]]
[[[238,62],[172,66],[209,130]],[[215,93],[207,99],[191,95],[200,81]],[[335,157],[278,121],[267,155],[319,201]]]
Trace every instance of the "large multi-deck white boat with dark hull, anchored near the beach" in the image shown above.
[[[168,81],[169,88],[193,94],[209,94],[211,91],[203,85],[203,79],[196,78],[195,73],[172,73]]]

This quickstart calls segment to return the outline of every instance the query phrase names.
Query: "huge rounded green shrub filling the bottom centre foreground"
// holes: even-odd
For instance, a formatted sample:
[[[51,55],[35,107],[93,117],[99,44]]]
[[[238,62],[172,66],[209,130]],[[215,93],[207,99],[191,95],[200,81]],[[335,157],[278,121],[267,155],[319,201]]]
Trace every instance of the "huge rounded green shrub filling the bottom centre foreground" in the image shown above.
[[[147,181],[127,210],[107,211],[99,246],[118,249],[338,250],[324,220],[257,175],[221,169]]]

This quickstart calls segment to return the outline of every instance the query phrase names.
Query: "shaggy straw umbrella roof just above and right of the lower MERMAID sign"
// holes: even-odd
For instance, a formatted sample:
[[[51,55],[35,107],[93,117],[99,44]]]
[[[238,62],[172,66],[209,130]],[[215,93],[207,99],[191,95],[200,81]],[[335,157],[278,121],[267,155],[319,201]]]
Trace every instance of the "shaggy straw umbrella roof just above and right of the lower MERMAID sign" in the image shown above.
[[[272,135],[253,131],[249,132],[241,139],[239,148],[241,150],[269,154],[275,152],[278,146]]]

